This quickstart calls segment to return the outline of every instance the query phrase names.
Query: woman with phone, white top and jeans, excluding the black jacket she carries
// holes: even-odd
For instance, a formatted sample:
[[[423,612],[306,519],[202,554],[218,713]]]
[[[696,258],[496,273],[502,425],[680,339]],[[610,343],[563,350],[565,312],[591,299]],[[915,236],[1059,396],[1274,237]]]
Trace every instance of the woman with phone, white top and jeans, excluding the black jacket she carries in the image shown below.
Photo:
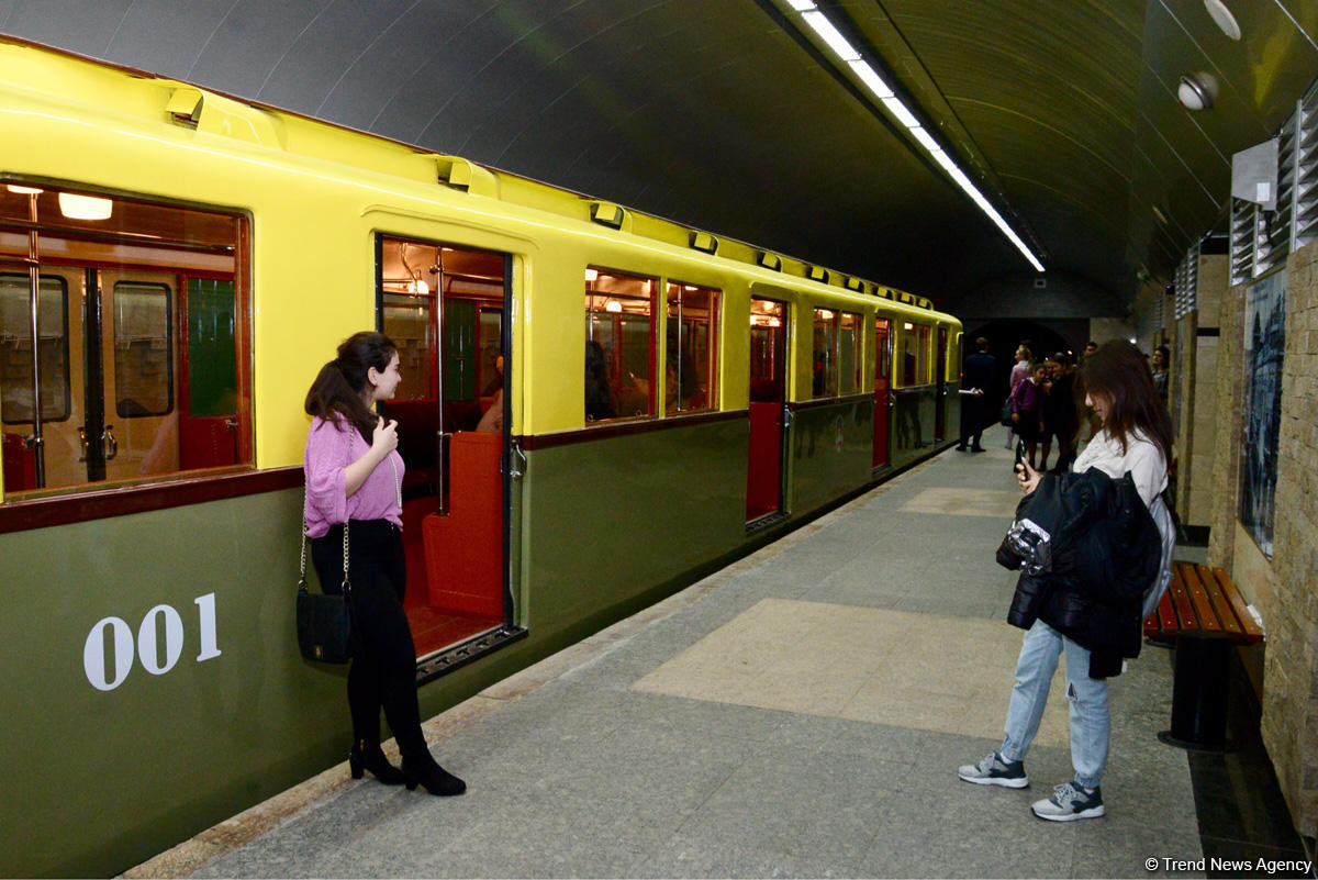
[[[1166,489],[1166,462],[1172,454],[1172,420],[1157,400],[1153,378],[1139,349],[1124,340],[1107,343],[1085,360],[1081,368],[1085,402],[1102,420],[1102,429],[1075,464],[1074,473],[1089,468],[1119,480],[1130,473],[1140,499],[1148,507],[1162,539],[1162,559],[1155,582],[1144,598],[1151,610],[1170,580],[1174,544],[1172,519],[1162,501]],[[1020,489],[1029,494],[1040,474],[1020,468]],[[1132,620],[1131,626],[1139,626]],[[1066,697],[1070,702],[1072,767],[1069,783],[1057,785],[1052,797],[1036,801],[1031,809],[1041,819],[1068,822],[1103,815],[1099,783],[1107,767],[1111,714],[1107,678],[1090,676],[1090,651],[1036,619],[1025,632],[1016,661],[1016,684],[1007,706],[1002,746],[978,764],[966,764],[957,776],[977,785],[1025,788],[1025,752],[1035,739],[1052,686],[1058,657],[1066,655]]]

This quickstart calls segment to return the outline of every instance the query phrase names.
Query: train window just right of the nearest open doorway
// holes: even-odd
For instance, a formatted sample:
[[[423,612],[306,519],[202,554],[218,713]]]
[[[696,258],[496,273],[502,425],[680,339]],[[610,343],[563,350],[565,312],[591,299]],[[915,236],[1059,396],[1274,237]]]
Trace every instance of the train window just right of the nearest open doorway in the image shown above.
[[[583,278],[585,285],[585,350],[583,352],[583,374],[585,375],[583,420],[585,427],[622,420],[655,419],[658,415],[655,362],[659,339],[659,275],[592,263],[585,267]],[[610,289],[614,281],[618,282],[618,289]],[[625,285],[633,283],[639,283],[642,290],[637,292],[622,290]],[[639,303],[645,303],[643,311],[641,311]],[[629,307],[634,311],[629,312]],[[609,315],[614,317],[604,317]],[[643,379],[635,374],[635,370],[626,366],[627,361],[631,361],[633,366],[639,364],[634,353],[629,357],[623,350],[627,329],[623,323],[627,315],[646,317],[647,350],[645,357],[646,377]],[[597,324],[602,320],[609,321],[609,346],[597,339]],[[613,340],[621,340],[621,344]],[[630,375],[630,387],[623,391],[622,374],[625,370]],[[601,383],[604,387],[600,387]],[[623,393],[626,393],[626,398]],[[605,400],[605,398],[608,399]],[[646,408],[638,411],[635,407],[642,400]]]

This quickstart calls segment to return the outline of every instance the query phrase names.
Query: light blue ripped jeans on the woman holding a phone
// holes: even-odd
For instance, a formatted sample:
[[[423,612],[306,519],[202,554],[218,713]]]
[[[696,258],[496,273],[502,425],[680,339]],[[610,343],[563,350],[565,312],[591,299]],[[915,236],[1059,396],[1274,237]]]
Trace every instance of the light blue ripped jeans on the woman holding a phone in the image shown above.
[[[1035,620],[1020,643],[1016,686],[1007,706],[1007,731],[1000,754],[1024,760],[1044,717],[1048,689],[1058,655],[1066,655],[1066,698],[1070,701],[1072,767],[1075,783],[1098,786],[1107,765],[1107,739],[1112,719],[1107,710],[1107,680],[1089,677],[1089,651],[1043,620]]]

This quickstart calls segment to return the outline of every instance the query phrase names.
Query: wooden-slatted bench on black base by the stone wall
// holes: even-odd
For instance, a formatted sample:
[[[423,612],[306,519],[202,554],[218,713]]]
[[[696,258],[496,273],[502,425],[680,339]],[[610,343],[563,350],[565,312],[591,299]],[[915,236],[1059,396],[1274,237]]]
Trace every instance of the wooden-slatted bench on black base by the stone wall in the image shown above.
[[[1176,563],[1172,585],[1144,620],[1144,635],[1176,642],[1172,729],[1159,739],[1182,748],[1224,748],[1231,649],[1263,642],[1231,577],[1220,568]]]

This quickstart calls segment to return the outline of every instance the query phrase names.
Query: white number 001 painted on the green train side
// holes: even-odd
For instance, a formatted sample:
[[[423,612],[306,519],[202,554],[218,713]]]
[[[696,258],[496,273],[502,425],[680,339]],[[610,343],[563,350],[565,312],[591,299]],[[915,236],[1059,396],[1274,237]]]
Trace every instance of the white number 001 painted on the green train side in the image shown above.
[[[196,605],[198,630],[202,639],[202,651],[196,655],[196,661],[214,660],[220,656],[220,648],[215,635],[215,593],[207,593],[192,599]],[[163,623],[165,657],[159,656],[157,642]],[[115,665],[112,671],[105,669],[105,635],[109,634],[115,651]],[[142,623],[137,627],[137,659],[142,661],[142,668],[153,676],[162,676],[174,668],[183,653],[183,618],[169,605],[157,605],[146,613]],[[129,671],[133,668],[133,630],[123,618],[104,618],[87,634],[83,643],[83,669],[87,672],[87,681],[96,690],[113,690],[124,684]],[[107,674],[111,672],[109,674]]]

